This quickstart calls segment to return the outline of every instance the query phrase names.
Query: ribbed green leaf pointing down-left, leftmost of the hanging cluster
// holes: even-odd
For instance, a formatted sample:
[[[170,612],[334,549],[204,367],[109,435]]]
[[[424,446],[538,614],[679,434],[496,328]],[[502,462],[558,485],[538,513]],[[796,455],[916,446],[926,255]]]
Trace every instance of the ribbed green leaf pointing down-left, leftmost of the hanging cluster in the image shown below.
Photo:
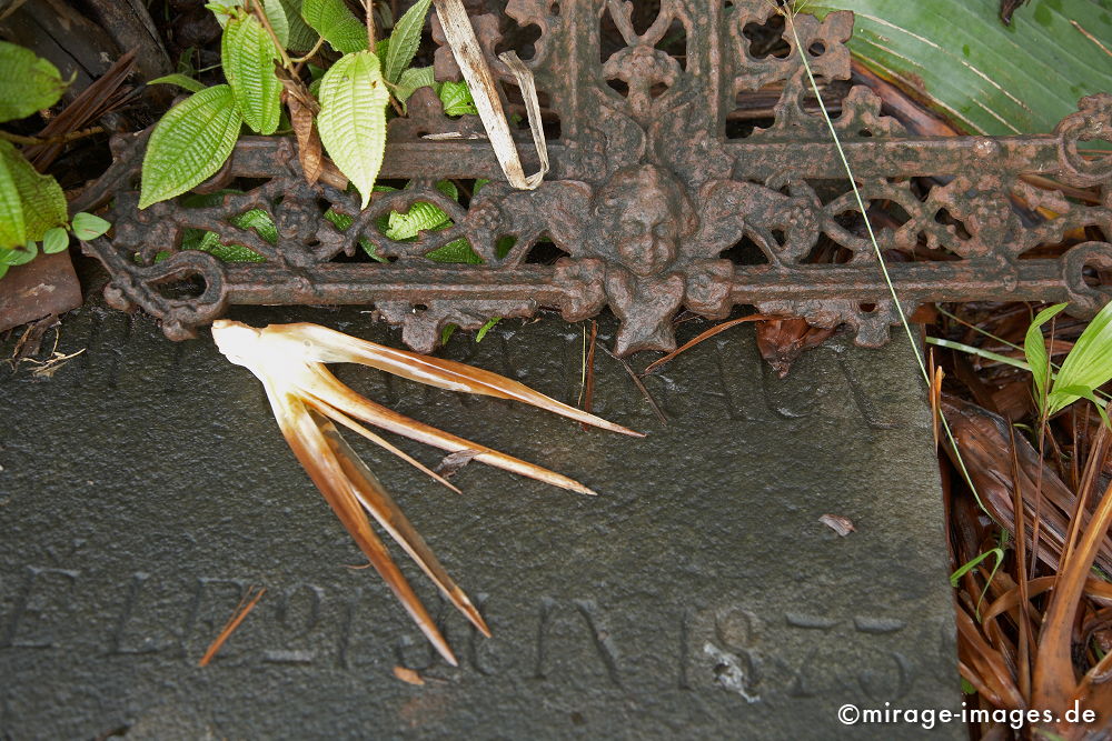
[[[139,208],[180,196],[219,170],[241,123],[226,84],[206,88],[167,111],[147,143]]]

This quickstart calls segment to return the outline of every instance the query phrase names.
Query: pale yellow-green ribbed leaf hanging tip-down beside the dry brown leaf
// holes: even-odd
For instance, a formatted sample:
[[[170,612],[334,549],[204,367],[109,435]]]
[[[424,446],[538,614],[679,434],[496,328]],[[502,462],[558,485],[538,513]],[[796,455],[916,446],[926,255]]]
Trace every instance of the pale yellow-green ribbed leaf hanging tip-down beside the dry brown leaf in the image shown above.
[[[369,51],[345,54],[320,83],[320,141],[340,172],[370,202],[386,151],[386,104],[390,93]]]

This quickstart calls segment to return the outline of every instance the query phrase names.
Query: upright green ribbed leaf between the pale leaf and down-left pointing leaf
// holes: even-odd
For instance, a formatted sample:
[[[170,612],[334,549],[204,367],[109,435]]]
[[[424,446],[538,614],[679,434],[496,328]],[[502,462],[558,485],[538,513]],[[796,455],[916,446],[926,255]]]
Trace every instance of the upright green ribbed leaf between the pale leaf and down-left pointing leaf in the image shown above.
[[[278,128],[281,82],[275,74],[278,50],[255,16],[241,16],[224,27],[220,44],[224,76],[247,126],[262,134]]]

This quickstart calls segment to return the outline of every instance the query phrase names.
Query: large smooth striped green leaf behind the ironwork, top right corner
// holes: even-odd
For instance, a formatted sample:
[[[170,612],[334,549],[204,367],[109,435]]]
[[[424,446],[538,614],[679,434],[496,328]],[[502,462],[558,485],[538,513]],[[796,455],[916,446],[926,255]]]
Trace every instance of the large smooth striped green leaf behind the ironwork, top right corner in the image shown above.
[[[1004,26],[989,0],[815,0],[856,13],[850,51],[967,133],[1051,131],[1112,90],[1112,3],[1034,0]]]

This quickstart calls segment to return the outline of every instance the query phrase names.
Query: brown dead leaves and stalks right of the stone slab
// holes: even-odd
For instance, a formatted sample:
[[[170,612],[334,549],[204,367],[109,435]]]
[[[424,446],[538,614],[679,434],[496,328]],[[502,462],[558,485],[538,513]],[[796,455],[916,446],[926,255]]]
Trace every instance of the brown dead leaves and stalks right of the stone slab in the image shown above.
[[[970,304],[932,332],[1014,354],[1010,343],[1022,344],[1032,309]],[[1056,361],[1082,329],[1064,318],[1054,328],[1048,348]],[[959,667],[972,690],[965,700],[1058,719],[1019,731],[979,723],[973,737],[1112,738],[1112,433],[1084,401],[1040,435],[1025,371],[935,351],[945,370],[939,407],[961,453],[959,461],[943,443]],[[1095,720],[1071,710],[1091,710]]]

